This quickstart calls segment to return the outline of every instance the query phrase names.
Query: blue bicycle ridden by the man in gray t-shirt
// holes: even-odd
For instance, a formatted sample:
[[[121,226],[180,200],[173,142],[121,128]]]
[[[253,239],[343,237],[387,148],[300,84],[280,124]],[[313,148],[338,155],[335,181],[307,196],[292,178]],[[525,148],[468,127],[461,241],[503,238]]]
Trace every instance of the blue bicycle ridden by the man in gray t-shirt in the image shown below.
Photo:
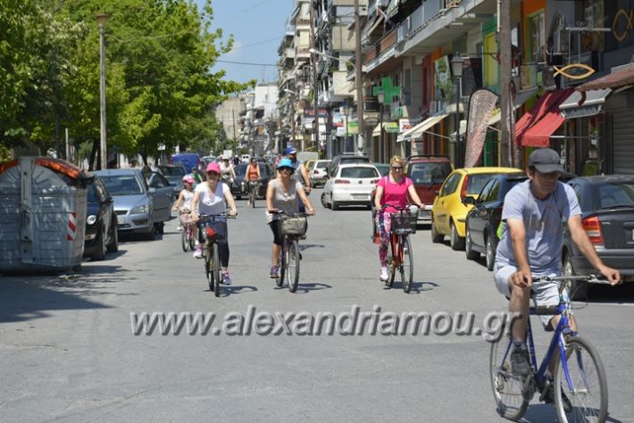
[[[559,304],[556,306],[531,307],[531,315],[559,315],[559,324],[548,346],[546,356],[539,367],[535,356],[535,344],[528,319],[526,331],[532,371],[528,376],[514,375],[511,370],[512,339],[508,336],[491,344],[489,359],[491,387],[496,400],[497,412],[505,419],[519,420],[524,415],[536,391],[540,400],[547,390],[554,389],[553,397],[557,418],[561,422],[603,422],[607,416],[607,381],[605,370],[595,347],[578,336],[570,328],[571,304],[564,300],[563,291],[571,281],[608,284],[607,281],[589,276],[536,277],[533,281],[558,282],[561,286]],[[507,328],[508,329],[508,328]],[[548,365],[555,358],[554,380],[546,377]]]

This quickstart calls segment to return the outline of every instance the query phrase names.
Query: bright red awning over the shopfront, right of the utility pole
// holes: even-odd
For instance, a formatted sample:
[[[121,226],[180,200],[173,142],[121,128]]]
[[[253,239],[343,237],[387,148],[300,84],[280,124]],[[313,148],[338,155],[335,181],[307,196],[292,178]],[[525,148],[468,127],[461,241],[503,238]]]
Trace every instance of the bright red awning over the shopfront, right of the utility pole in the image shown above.
[[[550,145],[549,137],[553,135],[553,132],[557,130],[563,123],[563,117],[559,112],[559,104],[563,103],[563,100],[568,98],[572,94],[572,89],[560,89],[557,91],[549,91],[545,95],[539,97],[538,103],[536,103],[529,112],[524,113],[520,120],[515,124],[515,139],[520,145],[526,146],[547,146]],[[559,116],[562,120],[556,123],[556,117]],[[541,121],[544,122],[544,127],[541,126]],[[550,128],[555,125],[555,129],[548,133],[546,141],[544,141],[544,133],[540,129],[533,128],[539,127],[542,129]],[[530,139],[525,139],[530,135]]]

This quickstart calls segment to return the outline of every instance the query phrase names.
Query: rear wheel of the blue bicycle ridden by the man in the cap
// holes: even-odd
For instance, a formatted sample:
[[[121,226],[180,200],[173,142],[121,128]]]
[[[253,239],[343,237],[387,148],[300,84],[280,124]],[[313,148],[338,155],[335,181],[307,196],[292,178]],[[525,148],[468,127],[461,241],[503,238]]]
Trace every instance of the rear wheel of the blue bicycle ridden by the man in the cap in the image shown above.
[[[529,401],[523,394],[523,378],[511,370],[511,340],[502,336],[491,343],[489,372],[497,413],[505,419],[517,421],[526,412]]]

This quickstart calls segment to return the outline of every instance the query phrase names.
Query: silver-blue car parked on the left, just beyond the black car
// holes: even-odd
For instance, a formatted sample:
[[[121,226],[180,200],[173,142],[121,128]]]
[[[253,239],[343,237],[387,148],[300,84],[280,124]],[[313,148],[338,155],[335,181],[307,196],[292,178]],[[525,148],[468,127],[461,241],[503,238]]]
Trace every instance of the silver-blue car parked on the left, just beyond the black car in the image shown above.
[[[154,234],[163,231],[163,222],[171,219],[174,190],[157,172],[148,175],[148,182],[138,169],[97,170],[108,192],[114,198],[117,228],[122,232]]]

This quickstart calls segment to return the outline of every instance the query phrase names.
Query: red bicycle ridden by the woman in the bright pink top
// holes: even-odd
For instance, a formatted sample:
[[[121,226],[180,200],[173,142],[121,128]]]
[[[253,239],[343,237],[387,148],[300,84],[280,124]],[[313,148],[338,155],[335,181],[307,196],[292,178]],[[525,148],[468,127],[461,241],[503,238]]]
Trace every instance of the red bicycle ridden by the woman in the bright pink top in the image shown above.
[[[385,208],[381,207],[380,213],[385,214]],[[396,270],[401,274],[401,286],[405,293],[412,289],[413,281],[413,250],[410,242],[410,234],[416,232],[418,208],[406,206],[399,208],[392,206],[396,212],[390,214],[391,228],[389,232],[388,269],[389,278],[385,285],[392,287]],[[414,211],[414,208],[416,209]]]

